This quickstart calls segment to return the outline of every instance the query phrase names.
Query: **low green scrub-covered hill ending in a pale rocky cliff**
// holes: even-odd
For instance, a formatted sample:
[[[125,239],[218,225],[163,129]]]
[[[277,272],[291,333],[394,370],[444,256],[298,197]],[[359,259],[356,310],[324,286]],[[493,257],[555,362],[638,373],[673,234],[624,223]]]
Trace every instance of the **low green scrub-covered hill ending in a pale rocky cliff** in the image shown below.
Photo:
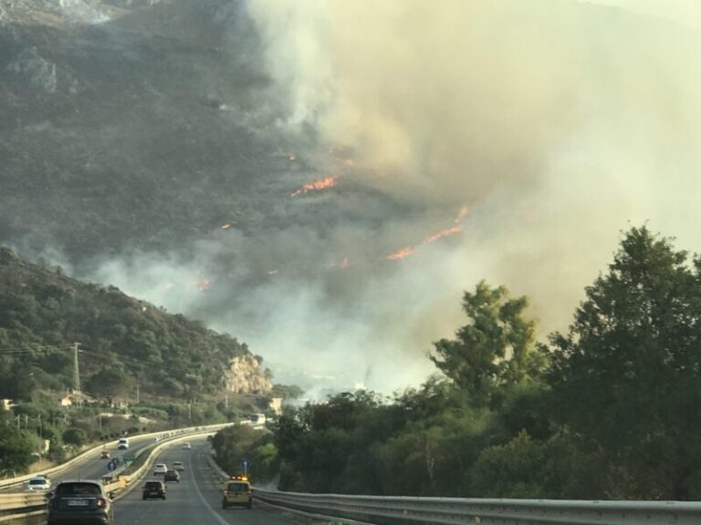
[[[246,391],[230,383],[241,376],[269,388],[262,359],[230,335],[0,248],[0,397],[72,387],[76,342],[90,396],[133,399],[137,386],[151,398],[223,396],[226,386]]]

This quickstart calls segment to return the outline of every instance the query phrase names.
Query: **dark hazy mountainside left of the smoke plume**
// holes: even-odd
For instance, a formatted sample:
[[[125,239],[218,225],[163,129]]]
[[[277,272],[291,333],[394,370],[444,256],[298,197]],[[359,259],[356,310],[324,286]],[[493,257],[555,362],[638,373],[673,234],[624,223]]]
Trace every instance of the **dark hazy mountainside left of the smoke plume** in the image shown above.
[[[288,161],[239,4],[0,2],[0,239],[78,262],[259,227]]]

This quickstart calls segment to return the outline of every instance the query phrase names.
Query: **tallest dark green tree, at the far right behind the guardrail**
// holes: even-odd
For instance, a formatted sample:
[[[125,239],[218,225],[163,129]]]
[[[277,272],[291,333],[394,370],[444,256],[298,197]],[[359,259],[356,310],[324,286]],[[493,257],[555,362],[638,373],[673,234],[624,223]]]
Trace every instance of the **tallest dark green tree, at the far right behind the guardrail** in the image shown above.
[[[560,419],[602,448],[610,497],[688,497],[701,474],[699,342],[701,260],[646,227],[624,234],[569,333],[551,335]]]

